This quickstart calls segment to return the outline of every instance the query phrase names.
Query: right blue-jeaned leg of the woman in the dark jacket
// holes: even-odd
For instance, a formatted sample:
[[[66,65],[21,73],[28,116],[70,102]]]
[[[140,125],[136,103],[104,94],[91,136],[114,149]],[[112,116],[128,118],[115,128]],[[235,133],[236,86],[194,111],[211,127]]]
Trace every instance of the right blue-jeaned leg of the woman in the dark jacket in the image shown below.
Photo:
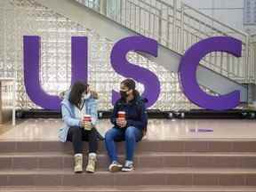
[[[126,148],[126,160],[132,161],[133,154],[136,147],[136,142],[141,140],[142,132],[136,127],[127,127],[125,130],[125,148]]]

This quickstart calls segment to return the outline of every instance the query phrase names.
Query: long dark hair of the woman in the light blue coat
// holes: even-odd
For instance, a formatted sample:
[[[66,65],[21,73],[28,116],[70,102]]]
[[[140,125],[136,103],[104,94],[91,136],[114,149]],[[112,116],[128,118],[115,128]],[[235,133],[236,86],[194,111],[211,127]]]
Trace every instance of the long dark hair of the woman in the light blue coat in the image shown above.
[[[75,84],[73,84],[71,88],[68,100],[77,108],[80,108],[82,94],[87,90],[87,86],[88,84],[84,84],[83,82],[77,81]]]

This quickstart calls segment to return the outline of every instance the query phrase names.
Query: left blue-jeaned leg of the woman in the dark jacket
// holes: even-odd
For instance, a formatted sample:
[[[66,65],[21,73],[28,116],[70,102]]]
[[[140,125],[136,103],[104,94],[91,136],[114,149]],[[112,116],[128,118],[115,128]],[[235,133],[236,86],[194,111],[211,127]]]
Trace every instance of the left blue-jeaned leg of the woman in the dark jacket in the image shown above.
[[[111,162],[117,161],[115,140],[122,138],[124,138],[124,131],[119,128],[114,127],[106,132],[105,145]]]

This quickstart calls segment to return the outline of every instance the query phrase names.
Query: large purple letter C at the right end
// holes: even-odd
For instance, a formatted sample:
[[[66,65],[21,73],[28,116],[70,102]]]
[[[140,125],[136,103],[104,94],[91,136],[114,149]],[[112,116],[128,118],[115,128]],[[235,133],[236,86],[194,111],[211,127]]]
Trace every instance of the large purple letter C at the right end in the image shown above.
[[[241,57],[242,42],[228,36],[215,36],[192,45],[180,61],[180,84],[188,100],[201,108],[225,110],[236,108],[240,92],[234,91],[218,97],[206,94],[196,82],[196,68],[201,59],[210,52],[228,52]]]

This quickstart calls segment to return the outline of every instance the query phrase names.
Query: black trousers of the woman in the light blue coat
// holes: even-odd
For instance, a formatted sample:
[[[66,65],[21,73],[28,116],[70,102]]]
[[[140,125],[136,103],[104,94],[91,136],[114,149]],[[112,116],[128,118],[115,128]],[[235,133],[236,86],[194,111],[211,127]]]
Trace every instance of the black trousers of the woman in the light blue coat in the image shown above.
[[[83,141],[89,142],[89,153],[96,153],[98,150],[97,130],[93,127],[86,131],[82,127],[72,126],[68,129],[67,140],[73,143],[75,154],[83,152]]]

